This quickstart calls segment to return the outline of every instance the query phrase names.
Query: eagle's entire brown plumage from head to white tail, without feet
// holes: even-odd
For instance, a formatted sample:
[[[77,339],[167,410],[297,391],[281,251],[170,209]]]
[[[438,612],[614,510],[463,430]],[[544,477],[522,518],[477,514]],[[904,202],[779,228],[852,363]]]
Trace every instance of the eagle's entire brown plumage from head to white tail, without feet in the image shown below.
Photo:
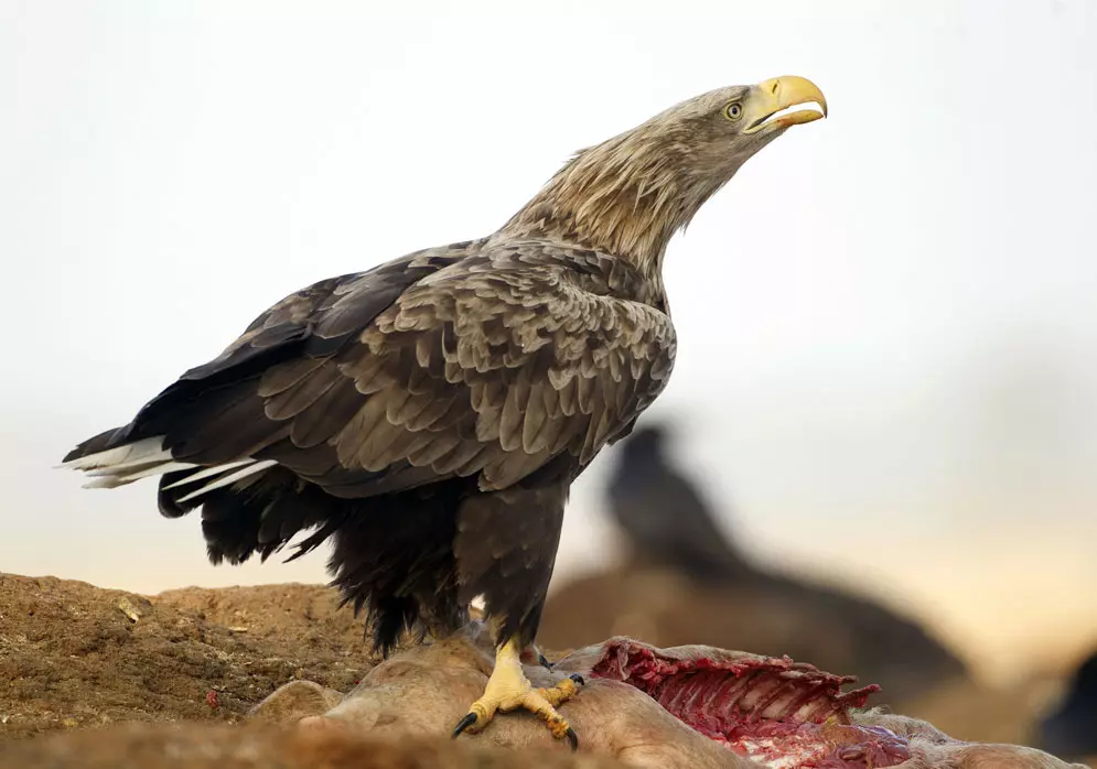
[[[66,462],[101,486],[162,474],[161,511],[202,507],[215,562],[331,539],[383,648],[454,629],[480,595],[501,643],[530,642],[571,481],[670,375],[667,241],[806,121],[752,122],[806,100],[794,80],[706,94],[579,153],[487,238],[286,297]]]

